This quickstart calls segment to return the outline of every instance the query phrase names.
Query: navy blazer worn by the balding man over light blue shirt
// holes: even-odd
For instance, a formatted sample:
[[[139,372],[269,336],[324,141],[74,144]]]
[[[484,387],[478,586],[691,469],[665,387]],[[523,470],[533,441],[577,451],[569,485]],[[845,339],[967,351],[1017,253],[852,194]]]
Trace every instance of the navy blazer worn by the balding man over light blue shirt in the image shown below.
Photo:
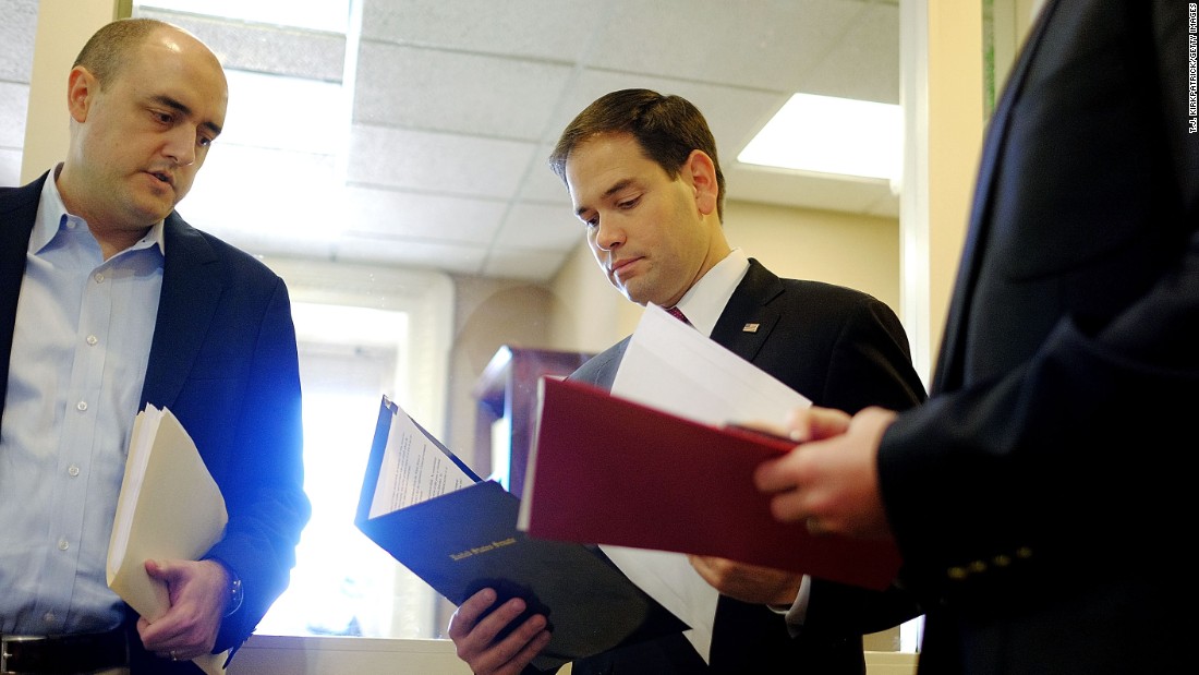
[[[0,406],[46,177],[0,188]],[[221,651],[240,646],[287,587],[309,516],[295,330],[283,281],[251,255],[174,212],[165,222],[165,251],[141,403],[179,417],[225,498],[229,524],[209,555],[237,572],[245,601],[221,626]],[[135,634],[133,643],[140,646]],[[164,673],[171,665],[146,668],[140,671]]]

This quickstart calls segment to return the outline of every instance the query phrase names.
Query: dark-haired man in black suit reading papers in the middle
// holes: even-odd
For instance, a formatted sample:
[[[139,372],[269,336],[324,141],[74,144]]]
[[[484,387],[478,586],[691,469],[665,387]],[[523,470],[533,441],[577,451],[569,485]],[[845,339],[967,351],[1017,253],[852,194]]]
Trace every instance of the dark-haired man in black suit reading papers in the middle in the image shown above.
[[[716,143],[691,102],[644,89],[602,96],[562,132],[550,165],[601,270],[632,302],[681,311],[697,330],[812,400],[857,410],[923,399],[906,335],[886,305],[848,288],[781,279],[729,246]],[[610,388],[627,344],[571,378]],[[571,671],[857,675],[866,669],[864,633],[920,614],[898,590],[866,591],[715,558],[691,561],[721,592],[710,665],[675,634],[576,661]],[[495,640],[524,604],[512,599],[480,619],[494,602],[489,589],[464,602],[450,637],[475,673],[519,673],[549,640],[546,617]],[[802,626],[789,631],[784,615]]]

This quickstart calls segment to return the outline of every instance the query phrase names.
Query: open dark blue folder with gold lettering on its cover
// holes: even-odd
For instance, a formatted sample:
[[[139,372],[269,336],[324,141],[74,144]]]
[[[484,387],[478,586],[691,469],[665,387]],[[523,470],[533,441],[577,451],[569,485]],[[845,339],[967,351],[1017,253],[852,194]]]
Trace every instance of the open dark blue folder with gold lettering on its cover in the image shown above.
[[[355,524],[453,604],[483,587],[525,599],[544,614],[553,639],[534,659],[540,670],[688,626],[631,581],[597,547],[538,540],[517,529],[520,500],[484,481],[417,423],[475,484],[369,517],[391,421],[405,415],[384,397]],[[510,626],[518,626],[519,617]]]

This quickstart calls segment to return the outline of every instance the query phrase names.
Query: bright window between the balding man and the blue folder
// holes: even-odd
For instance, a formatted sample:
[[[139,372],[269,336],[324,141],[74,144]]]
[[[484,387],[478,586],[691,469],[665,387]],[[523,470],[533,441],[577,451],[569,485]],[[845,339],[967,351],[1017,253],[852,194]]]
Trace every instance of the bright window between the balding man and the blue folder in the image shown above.
[[[380,396],[444,424],[453,293],[433,272],[266,260],[293,297],[312,520],[258,633],[433,638],[440,596],[354,526]],[[410,320],[418,318],[418,320]]]

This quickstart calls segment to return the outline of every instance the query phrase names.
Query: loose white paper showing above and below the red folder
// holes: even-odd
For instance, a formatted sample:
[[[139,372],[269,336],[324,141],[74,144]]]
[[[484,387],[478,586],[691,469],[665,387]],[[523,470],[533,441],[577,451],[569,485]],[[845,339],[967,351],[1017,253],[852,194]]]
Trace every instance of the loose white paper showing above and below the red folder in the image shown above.
[[[791,410],[812,405],[805,396],[656,305],[645,307],[611,393],[707,424],[783,426]],[[685,634],[706,662],[719,593],[695,572],[687,555],[601,548],[638,586],[692,626]]]

